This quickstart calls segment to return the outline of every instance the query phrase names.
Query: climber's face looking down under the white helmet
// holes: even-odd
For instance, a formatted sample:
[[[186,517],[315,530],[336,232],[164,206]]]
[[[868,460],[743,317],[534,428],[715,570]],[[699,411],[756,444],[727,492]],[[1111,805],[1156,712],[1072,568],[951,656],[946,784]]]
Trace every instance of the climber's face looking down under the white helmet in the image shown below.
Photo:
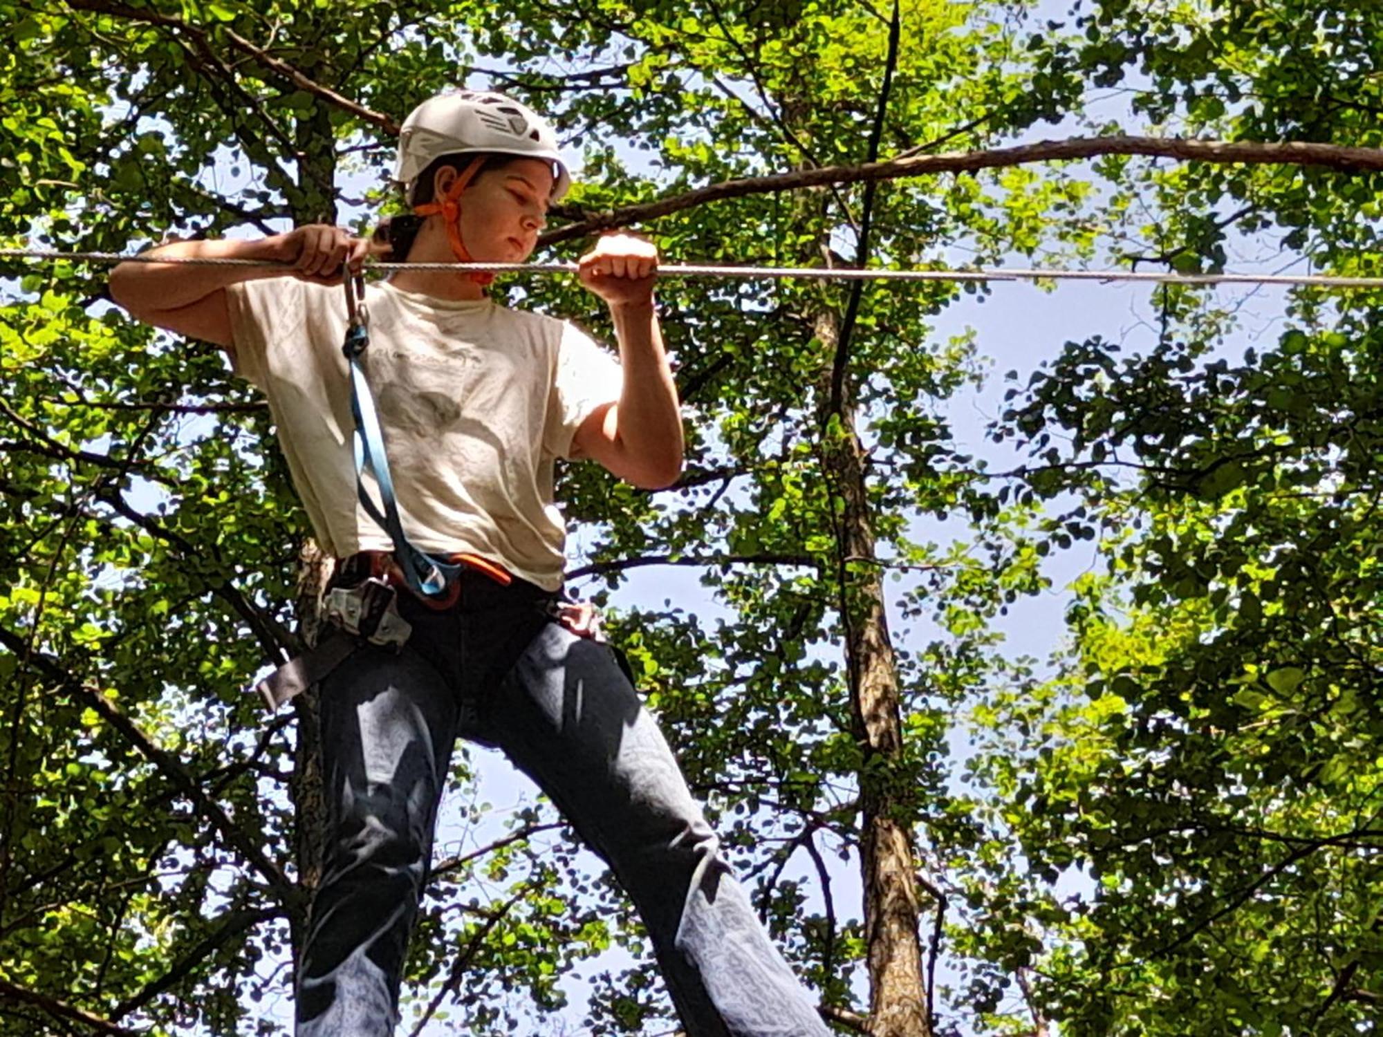
[[[444,173],[438,173],[438,187]],[[514,159],[467,184],[461,195],[461,239],[472,257],[477,263],[527,260],[548,224],[553,184],[552,167],[538,159]]]

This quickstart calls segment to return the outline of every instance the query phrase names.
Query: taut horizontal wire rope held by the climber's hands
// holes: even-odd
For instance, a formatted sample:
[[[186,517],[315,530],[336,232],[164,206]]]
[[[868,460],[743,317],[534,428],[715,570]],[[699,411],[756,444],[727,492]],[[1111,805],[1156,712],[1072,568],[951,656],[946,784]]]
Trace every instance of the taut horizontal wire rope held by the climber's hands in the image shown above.
[[[115,252],[53,252],[41,249],[0,249],[0,260],[51,260],[71,263],[169,263],[192,267],[257,267],[290,271],[292,264],[246,259],[195,256],[123,256]],[[575,274],[575,263],[365,263],[365,271],[454,270],[474,274]],[[979,267],[975,270],[878,270],[855,267],[748,267],[667,264],[660,278],[745,278],[761,281],[1097,281],[1147,282],[1153,285],[1290,285],[1324,289],[1383,288],[1383,277],[1335,277],[1329,274],[1145,274],[1131,270],[1041,270],[1025,267]]]

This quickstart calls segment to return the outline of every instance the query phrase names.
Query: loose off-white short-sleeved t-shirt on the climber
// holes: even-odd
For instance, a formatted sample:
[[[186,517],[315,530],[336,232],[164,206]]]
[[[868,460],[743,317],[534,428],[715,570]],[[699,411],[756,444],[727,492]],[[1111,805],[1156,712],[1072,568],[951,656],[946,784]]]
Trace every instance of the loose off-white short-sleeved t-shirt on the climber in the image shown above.
[[[390,550],[355,495],[344,290],[282,277],[243,281],[225,296],[236,371],[268,397],[318,542],[336,557]],[[560,586],[566,528],[552,465],[570,456],[592,411],[620,398],[615,358],[566,321],[487,299],[384,282],[365,301],[362,364],[408,539]],[[379,502],[368,476],[365,487]]]

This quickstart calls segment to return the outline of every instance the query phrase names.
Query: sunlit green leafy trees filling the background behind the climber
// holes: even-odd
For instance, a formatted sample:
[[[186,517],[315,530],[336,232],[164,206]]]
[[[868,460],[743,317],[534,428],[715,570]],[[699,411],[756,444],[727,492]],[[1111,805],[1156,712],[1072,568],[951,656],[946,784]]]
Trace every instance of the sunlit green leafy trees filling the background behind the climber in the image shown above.
[[[0,15],[3,246],[364,231],[404,115],[469,84],[581,156],[546,256],[635,221],[682,261],[1213,272],[1249,245],[1383,274],[1372,0]],[[219,351],[133,324],[102,267],[0,274],[0,1034],[274,1033],[315,734],[310,697],[266,719],[245,687],[313,636],[306,516]],[[568,281],[496,290],[609,332]],[[1383,296],[1296,289],[1250,339],[1232,296],[1166,286],[1133,351],[1072,312],[981,458],[946,407],[986,343],[936,326],[987,296],[660,285],[689,467],[660,492],[566,469],[574,574],[696,568],[714,610],[611,625],[841,1033],[1373,1031]],[[1076,550],[1068,639],[1014,658],[1007,610]],[[556,1013],[618,944],[582,1026],[667,1031],[613,881],[544,841],[549,806],[512,825],[436,861],[408,1025]]]

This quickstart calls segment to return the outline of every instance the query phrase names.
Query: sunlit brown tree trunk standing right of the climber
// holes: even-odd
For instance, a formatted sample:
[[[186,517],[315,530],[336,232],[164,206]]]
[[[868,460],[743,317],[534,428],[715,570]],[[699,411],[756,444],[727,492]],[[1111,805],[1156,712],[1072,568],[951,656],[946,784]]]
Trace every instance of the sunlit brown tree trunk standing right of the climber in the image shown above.
[[[817,339],[831,358],[839,342],[839,315],[828,306],[815,314]],[[827,365],[828,368],[828,365]],[[900,820],[892,763],[903,752],[900,684],[888,639],[881,568],[874,564],[874,528],[866,483],[864,449],[856,434],[853,394],[846,389],[835,423],[830,373],[822,391],[822,465],[831,491],[837,530],[841,622],[860,769],[864,885],[864,946],[870,979],[871,1037],[929,1037],[917,863],[906,820]],[[848,384],[848,382],[846,382]]]

